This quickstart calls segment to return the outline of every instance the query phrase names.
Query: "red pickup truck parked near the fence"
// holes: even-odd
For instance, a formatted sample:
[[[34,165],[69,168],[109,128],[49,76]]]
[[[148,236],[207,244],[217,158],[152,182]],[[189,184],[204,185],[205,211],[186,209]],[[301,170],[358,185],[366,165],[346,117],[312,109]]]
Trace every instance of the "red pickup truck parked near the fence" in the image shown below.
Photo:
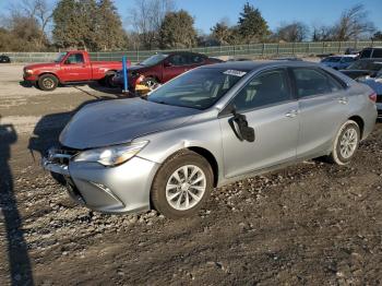
[[[91,61],[83,50],[60,53],[51,63],[35,63],[24,67],[24,81],[43,91],[53,91],[58,84],[99,81],[111,84],[115,73],[122,69],[118,61]]]

